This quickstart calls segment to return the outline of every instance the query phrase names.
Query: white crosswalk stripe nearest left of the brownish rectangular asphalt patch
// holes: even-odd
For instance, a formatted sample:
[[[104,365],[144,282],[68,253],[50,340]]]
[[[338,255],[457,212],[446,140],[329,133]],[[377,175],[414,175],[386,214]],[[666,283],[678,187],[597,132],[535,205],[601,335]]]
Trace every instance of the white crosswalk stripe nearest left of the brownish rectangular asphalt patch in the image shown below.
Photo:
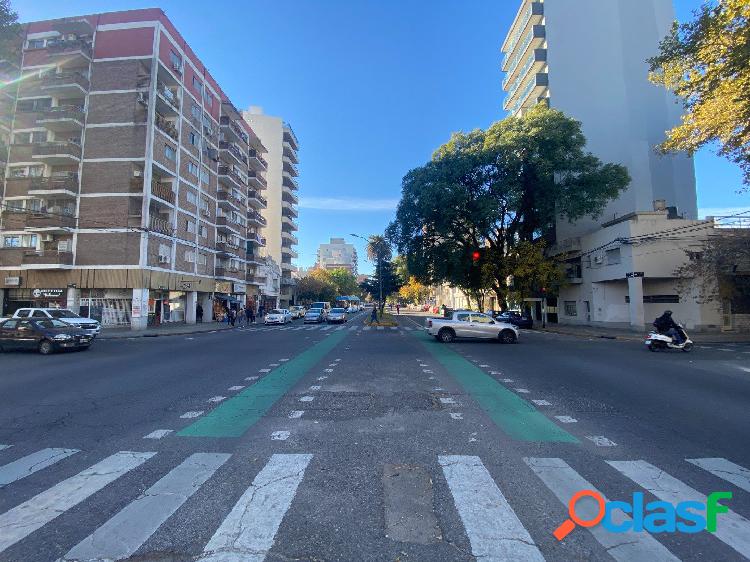
[[[273,455],[203,550],[199,562],[262,562],[312,455]]]

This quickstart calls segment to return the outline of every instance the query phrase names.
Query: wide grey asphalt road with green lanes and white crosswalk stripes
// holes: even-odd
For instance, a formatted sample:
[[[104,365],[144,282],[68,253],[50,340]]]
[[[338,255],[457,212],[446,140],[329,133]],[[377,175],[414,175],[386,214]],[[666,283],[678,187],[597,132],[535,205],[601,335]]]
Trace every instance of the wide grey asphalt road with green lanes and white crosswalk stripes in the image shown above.
[[[363,319],[0,355],[0,561],[750,558],[750,346]],[[558,541],[581,489],[732,498],[715,533]]]

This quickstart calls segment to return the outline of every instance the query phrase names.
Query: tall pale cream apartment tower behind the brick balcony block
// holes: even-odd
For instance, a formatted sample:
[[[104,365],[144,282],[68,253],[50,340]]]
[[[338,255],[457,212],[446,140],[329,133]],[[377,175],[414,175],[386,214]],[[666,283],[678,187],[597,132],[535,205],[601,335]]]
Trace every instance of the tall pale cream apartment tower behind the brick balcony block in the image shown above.
[[[268,206],[262,211],[267,220],[265,256],[269,271],[278,266],[281,270],[279,285],[270,283],[265,293],[267,304],[276,299],[276,305],[286,308],[294,302],[296,280],[293,277],[297,258],[297,193],[299,184],[297,165],[299,141],[291,125],[280,117],[265,115],[260,107],[250,107],[243,112],[245,121],[256,132],[266,147],[268,170]],[[266,306],[268,309],[269,306]]]

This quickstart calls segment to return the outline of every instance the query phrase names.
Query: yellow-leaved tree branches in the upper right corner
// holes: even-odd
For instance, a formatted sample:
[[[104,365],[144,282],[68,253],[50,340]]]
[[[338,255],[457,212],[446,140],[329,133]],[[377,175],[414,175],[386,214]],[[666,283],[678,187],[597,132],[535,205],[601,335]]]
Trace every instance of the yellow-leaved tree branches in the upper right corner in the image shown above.
[[[679,96],[682,124],[664,152],[693,153],[707,144],[740,166],[750,186],[750,0],[706,2],[687,23],[675,22],[648,60],[650,79]]]

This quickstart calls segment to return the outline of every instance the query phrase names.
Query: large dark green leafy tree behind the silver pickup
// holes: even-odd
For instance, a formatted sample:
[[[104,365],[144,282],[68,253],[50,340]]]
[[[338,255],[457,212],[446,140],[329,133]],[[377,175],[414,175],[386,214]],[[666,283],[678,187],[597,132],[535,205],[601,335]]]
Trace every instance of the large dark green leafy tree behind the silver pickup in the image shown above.
[[[578,121],[542,104],[486,131],[454,134],[404,177],[388,228],[411,274],[458,287],[480,305],[488,290],[505,305],[510,279],[540,283],[546,274],[514,256],[541,256],[558,217],[596,216],[630,183],[623,166],[602,163],[585,145]]]

